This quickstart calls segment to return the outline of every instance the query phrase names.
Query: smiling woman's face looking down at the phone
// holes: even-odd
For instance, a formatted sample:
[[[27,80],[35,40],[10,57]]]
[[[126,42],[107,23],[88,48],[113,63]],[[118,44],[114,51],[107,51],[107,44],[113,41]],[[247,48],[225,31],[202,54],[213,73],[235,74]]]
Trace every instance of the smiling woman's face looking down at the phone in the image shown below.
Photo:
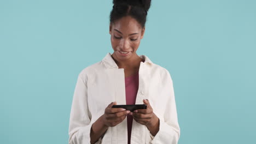
[[[143,38],[145,28],[130,16],[122,17],[109,26],[113,57],[117,61],[136,58],[136,51]]]

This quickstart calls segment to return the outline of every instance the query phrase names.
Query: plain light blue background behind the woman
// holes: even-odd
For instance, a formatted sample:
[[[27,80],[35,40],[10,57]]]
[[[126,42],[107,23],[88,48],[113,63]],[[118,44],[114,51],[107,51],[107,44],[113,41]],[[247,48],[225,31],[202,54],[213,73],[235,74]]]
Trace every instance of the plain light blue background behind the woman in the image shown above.
[[[77,76],[110,45],[112,1],[0,2],[0,141],[68,143]],[[256,1],[153,1],[139,55],[171,73],[179,144],[256,143]]]

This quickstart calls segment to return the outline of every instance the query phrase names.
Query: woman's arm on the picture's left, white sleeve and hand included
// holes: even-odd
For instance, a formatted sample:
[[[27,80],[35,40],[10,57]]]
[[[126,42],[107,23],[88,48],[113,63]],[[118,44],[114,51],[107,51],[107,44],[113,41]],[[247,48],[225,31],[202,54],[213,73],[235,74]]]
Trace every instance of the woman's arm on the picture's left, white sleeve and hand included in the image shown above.
[[[101,136],[108,127],[114,127],[123,122],[126,114],[130,112],[121,108],[112,108],[114,104],[117,104],[113,102],[107,106],[104,114],[92,123],[93,113],[90,113],[88,107],[86,79],[87,77],[79,74],[75,86],[69,119],[69,144],[100,143]]]

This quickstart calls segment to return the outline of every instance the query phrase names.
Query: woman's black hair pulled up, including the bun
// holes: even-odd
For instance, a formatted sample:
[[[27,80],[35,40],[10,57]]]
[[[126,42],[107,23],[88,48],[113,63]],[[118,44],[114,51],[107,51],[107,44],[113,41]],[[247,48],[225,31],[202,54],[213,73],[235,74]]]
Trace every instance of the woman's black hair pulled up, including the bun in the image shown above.
[[[147,20],[151,0],[113,0],[113,9],[110,12],[110,23],[122,17],[131,16],[143,28]]]

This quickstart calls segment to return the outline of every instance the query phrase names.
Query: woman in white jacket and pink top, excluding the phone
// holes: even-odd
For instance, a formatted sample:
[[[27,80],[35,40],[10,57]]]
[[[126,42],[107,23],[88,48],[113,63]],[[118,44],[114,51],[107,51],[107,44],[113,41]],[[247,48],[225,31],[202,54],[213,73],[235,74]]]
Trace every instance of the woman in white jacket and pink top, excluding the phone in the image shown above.
[[[149,1],[113,1],[114,50],[83,69],[75,87],[69,143],[177,143],[180,129],[170,74],[136,51]],[[146,104],[133,112],[113,105]]]

